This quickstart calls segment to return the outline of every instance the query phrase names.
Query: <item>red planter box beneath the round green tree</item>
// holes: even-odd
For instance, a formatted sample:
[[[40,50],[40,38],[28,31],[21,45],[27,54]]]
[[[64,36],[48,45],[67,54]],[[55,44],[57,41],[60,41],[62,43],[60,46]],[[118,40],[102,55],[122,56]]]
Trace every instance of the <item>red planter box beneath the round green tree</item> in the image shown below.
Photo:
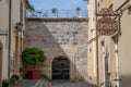
[[[36,78],[40,78],[41,74],[40,72],[33,72],[33,71],[29,71],[27,72],[27,74],[25,75],[26,78],[31,78],[31,79],[36,79]]]

